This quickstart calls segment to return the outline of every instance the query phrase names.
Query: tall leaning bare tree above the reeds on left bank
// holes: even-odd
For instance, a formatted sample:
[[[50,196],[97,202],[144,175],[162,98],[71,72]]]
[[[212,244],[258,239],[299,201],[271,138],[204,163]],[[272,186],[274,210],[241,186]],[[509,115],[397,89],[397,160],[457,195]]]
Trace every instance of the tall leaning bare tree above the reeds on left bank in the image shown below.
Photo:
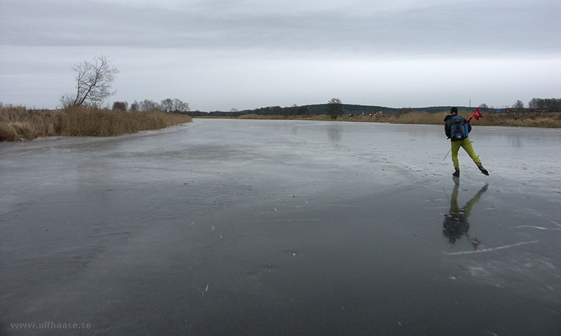
[[[63,95],[60,99],[63,107],[99,106],[115,94],[111,91],[111,84],[119,70],[112,67],[104,56],[76,64],[72,70],[76,72],[76,95]]]

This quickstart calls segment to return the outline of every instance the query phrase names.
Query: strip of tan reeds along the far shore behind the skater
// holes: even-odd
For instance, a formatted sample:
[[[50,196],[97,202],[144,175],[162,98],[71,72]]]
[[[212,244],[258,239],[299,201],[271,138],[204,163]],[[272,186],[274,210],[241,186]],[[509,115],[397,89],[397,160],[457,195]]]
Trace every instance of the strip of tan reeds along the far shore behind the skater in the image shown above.
[[[354,121],[354,122],[372,122],[372,123],[411,123],[424,125],[444,125],[444,118],[449,112],[410,112],[405,114],[374,114],[338,116],[335,121]],[[460,114],[462,115],[462,114]],[[463,115],[468,119],[469,114]],[[330,116],[262,116],[257,114],[244,114],[238,116],[238,119],[297,119],[297,120],[318,120],[333,121]],[[482,119],[472,120],[473,124],[478,126],[517,126],[517,127],[539,127],[539,128],[561,128],[560,113],[515,113],[515,114],[498,114],[485,113]]]

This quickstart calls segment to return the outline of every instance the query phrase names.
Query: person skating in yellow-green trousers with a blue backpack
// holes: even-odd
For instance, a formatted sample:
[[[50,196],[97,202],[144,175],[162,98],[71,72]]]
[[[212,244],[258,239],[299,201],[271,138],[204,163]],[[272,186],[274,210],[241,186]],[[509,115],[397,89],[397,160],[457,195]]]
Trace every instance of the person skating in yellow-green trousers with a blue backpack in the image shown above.
[[[466,153],[471,157],[475,165],[478,166],[481,173],[489,175],[487,169],[483,168],[481,160],[473,151],[469,133],[471,132],[471,124],[463,116],[458,115],[457,107],[450,109],[450,115],[444,119],[444,130],[448,139],[452,140],[452,162],[454,163],[454,173],[452,176],[460,176],[460,165],[458,161],[458,152],[460,147],[464,148]]]

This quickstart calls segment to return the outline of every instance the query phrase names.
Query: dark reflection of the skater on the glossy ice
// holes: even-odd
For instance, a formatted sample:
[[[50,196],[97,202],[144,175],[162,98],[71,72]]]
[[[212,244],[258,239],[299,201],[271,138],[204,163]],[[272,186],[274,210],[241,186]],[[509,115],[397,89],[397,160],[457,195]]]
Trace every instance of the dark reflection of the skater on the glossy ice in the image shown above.
[[[450,213],[445,215],[444,224],[442,225],[442,234],[444,234],[444,236],[447,237],[448,241],[452,244],[456,243],[456,241],[462,236],[466,236],[473,248],[477,249],[480,241],[478,241],[477,238],[471,238],[469,236],[468,217],[473,206],[475,206],[481,198],[481,195],[487,191],[489,184],[485,184],[481,190],[478,191],[478,193],[475,194],[468,203],[466,203],[464,208],[458,207],[458,191],[460,186],[459,178],[454,177],[454,184],[454,191],[452,191],[452,199],[450,200]]]

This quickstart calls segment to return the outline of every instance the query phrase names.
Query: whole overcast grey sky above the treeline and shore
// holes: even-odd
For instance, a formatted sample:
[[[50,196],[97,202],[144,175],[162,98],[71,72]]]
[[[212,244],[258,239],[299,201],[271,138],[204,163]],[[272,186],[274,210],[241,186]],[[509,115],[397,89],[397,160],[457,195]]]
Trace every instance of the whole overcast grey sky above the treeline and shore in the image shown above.
[[[0,102],[55,108],[103,55],[116,100],[192,110],[561,98],[559,0],[0,0]]]

